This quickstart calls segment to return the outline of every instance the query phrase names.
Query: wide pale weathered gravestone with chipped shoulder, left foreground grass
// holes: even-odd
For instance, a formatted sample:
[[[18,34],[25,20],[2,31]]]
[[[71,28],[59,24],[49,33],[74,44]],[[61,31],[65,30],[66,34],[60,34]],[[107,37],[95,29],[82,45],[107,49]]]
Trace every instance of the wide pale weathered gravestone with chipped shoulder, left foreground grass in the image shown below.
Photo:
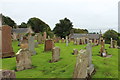
[[[31,53],[28,49],[22,50],[20,49],[16,54],[16,64],[17,64],[17,71],[31,69],[32,62],[31,62]]]

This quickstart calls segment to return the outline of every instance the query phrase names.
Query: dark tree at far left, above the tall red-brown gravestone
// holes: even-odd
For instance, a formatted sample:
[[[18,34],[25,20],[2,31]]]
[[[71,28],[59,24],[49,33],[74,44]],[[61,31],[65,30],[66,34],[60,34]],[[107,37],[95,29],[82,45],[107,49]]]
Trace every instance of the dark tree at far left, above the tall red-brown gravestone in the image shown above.
[[[3,25],[8,25],[12,28],[16,28],[16,23],[8,16],[2,15],[2,24]]]

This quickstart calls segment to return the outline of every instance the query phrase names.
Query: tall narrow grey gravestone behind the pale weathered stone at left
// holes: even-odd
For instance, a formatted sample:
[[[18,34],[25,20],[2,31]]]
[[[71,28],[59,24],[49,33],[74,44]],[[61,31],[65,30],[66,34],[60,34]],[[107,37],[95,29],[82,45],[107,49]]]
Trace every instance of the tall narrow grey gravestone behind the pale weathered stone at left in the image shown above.
[[[32,53],[32,55],[35,55],[36,51],[35,51],[34,36],[29,37],[28,46],[29,46],[29,51]]]

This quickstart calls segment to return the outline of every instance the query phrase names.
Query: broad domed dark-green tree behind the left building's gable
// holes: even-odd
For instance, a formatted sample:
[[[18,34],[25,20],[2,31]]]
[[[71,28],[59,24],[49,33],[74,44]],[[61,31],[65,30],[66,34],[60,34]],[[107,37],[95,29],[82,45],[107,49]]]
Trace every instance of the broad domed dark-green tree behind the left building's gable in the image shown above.
[[[30,18],[27,22],[27,25],[31,26],[35,33],[51,31],[48,24],[36,17]]]

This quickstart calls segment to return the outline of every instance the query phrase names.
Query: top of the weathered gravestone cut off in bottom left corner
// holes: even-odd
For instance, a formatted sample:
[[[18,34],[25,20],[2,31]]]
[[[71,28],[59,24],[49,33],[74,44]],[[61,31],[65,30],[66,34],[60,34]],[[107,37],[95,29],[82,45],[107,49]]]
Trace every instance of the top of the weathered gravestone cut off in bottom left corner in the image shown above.
[[[0,80],[16,80],[14,70],[0,70]]]

